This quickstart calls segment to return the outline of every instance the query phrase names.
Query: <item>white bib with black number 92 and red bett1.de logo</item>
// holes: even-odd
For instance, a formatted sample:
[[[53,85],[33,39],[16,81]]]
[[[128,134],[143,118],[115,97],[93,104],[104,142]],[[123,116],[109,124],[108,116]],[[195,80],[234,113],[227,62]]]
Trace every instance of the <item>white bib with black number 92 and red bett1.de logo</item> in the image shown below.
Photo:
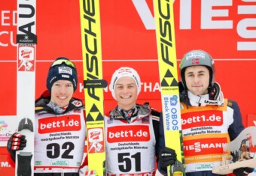
[[[78,172],[86,127],[82,109],[35,116],[35,173]]]

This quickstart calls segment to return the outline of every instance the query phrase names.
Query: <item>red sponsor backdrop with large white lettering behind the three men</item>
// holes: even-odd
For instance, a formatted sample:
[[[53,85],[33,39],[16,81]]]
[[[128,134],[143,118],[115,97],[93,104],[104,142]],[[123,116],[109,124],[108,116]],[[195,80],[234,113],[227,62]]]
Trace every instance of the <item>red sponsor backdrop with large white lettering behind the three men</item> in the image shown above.
[[[65,56],[78,67],[75,96],[84,100],[79,2],[36,3],[35,97],[46,90],[50,63]],[[215,81],[224,97],[239,103],[246,126],[247,115],[256,114],[256,0],[176,0],[174,8],[178,64],[191,49],[209,52],[215,58]],[[118,67],[133,67],[142,79],[139,103],[161,110],[153,0],[104,0],[100,10],[103,78],[109,83]],[[0,172],[14,175],[5,145],[16,130],[17,68],[22,67],[22,61],[17,63],[17,1],[0,0],[0,12]],[[116,102],[109,88],[104,92],[107,112]]]

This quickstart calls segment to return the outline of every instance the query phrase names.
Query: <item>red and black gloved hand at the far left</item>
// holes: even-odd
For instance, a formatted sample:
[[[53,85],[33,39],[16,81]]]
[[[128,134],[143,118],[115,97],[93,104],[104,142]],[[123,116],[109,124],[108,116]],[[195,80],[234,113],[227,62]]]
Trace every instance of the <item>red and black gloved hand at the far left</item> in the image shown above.
[[[7,143],[7,150],[11,154],[11,158],[15,161],[16,151],[23,150],[26,147],[26,136],[20,133],[14,133]]]

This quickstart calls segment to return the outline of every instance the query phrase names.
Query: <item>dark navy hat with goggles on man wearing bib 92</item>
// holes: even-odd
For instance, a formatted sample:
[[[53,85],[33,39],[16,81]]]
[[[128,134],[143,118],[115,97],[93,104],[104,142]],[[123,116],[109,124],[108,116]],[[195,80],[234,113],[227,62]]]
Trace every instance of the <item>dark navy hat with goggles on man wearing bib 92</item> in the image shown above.
[[[75,64],[69,60],[69,58],[59,57],[53,61],[47,76],[47,89],[51,92],[51,87],[53,83],[59,80],[68,80],[72,82],[74,92],[78,85],[78,75],[75,68]]]

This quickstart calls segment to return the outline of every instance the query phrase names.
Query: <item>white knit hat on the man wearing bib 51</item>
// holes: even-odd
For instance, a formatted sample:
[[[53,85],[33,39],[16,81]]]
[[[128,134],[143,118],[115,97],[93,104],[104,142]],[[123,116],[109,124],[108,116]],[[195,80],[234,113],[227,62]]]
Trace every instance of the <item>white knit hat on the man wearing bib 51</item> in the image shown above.
[[[137,96],[139,95],[139,92],[142,89],[142,84],[141,84],[141,79],[139,78],[139,74],[136,72],[136,70],[134,70],[131,67],[120,67],[119,69],[115,70],[115,72],[112,75],[111,78],[111,82],[110,82],[110,91],[112,93],[112,96],[114,97],[114,100],[117,100],[114,94],[114,88],[115,85],[117,84],[118,79],[122,78],[122,77],[131,77],[134,79],[134,81],[136,82],[137,85]]]

